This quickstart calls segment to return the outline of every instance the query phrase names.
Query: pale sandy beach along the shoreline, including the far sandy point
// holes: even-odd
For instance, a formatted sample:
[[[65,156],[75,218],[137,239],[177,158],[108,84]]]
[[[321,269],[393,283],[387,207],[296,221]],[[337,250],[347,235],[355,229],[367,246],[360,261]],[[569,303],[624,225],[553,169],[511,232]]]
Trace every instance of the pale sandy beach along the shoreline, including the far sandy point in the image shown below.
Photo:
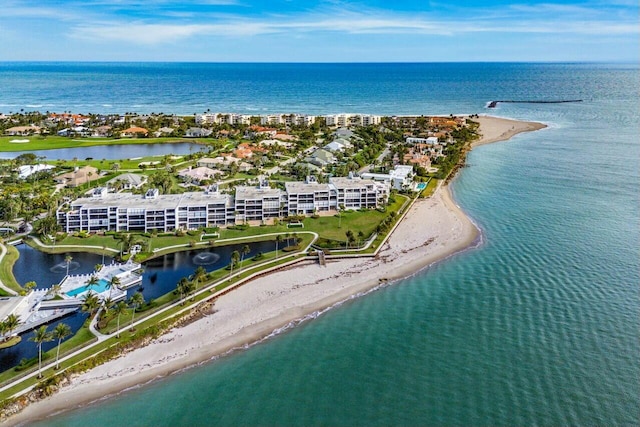
[[[546,127],[487,116],[474,120],[483,134],[474,146]],[[469,248],[479,236],[449,189],[441,187],[430,199],[414,203],[376,258],[330,260],[326,266],[305,261],[253,280],[220,297],[206,317],[74,378],[59,393],[29,405],[8,422],[27,423],[79,407],[242,348],[381,283],[415,274]]]

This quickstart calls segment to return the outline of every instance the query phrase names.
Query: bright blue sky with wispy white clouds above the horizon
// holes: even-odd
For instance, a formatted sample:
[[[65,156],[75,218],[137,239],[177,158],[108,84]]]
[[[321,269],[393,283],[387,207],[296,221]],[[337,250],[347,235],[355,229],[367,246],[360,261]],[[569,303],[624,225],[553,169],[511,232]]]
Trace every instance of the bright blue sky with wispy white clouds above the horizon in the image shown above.
[[[0,60],[638,62],[638,0],[2,0]]]

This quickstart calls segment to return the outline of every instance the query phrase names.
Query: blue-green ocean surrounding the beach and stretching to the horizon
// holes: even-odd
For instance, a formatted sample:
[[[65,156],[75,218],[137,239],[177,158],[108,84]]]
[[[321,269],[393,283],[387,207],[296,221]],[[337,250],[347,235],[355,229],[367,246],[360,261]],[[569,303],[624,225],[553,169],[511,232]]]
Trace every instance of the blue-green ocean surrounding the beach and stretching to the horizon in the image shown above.
[[[637,64],[0,64],[0,111],[491,113],[547,129],[452,184],[483,244],[39,425],[640,423]],[[582,99],[499,104],[495,99]]]

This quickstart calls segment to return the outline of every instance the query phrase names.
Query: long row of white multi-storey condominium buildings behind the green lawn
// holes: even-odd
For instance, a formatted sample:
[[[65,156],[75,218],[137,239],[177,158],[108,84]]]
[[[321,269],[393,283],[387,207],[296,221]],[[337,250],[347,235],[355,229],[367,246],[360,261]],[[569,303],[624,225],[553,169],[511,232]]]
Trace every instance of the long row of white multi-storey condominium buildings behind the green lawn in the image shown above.
[[[288,215],[307,215],[337,209],[377,208],[387,202],[389,182],[349,176],[320,184],[312,177],[288,182],[285,190],[266,180],[257,186],[238,186],[235,195],[222,194],[217,185],[204,192],[160,195],[108,193],[77,199],[57,211],[65,232],[151,231],[224,226],[236,222],[267,221]]]

